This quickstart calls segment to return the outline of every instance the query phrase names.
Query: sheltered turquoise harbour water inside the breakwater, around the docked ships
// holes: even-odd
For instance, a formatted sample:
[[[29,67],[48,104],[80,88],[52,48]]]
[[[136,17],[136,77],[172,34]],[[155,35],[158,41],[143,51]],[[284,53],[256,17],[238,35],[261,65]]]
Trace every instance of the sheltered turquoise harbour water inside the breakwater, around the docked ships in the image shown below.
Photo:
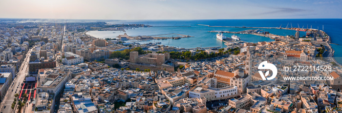
[[[180,48],[196,48],[196,47],[214,47],[221,46],[226,47],[224,43],[216,39],[217,33],[209,33],[208,31],[219,30],[219,31],[243,31],[251,28],[228,28],[228,27],[208,27],[202,25],[192,25],[192,27],[142,27],[136,29],[129,29],[126,32],[120,31],[90,31],[87,34],[94,36],[96,38],[116,38],[119,35],[127,33],[129,36],[153,36],[153,35],[163,35],[163,34],[181,34],[190,35],[192,38],[181,38],[181,39],[159,39],[142,41],[143,43],[150,42],[162,42],[162,44],[167,45],[170,41],[169,46],[180,47]],[[265,31],[270,31],[272,34],[277,34],[281,36],[294,35],[296,31],[293,30],[281,30],[281,29],[263,29]],[[115,32],[115,33],[113,33]],[[302,32],[304,34],[304,32]],[[231,37],[233,34],[223,34],[226,37]],[[235,34],[241,38],[243,41],[247,42],[258,42],[258,41],[274,41],[273,39],[260,37],[249,34]],[[176,37],[177,35],[167,35],[169,37]]]

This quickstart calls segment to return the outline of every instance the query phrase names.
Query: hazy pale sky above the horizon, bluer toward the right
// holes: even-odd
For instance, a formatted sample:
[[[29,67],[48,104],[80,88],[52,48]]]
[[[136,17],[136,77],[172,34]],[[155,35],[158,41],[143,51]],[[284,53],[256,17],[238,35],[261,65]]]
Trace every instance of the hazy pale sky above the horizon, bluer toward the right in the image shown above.
[[[16,19],[342,19],[342,0],[0,0]]]

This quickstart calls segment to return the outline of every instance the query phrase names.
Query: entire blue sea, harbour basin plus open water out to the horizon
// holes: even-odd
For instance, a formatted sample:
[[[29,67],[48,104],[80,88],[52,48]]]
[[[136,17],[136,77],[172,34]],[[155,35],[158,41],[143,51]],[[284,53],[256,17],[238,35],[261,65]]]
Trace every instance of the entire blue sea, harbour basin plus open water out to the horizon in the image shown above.
[[[211,26],[246,26],[246,27],[300,27],[300,28],[314,28],[324,30],[331,38],[332,43],[340,45],[332,45],[335,50],[335,59],[342,63],[342,19],[217,19],[217,20],[128,20],[128,21],[112,21],[107,23],[140,23],[149,24],[152,26],[191,26],[191,27],[148,27],[126,30],[129,36],[151,36],[162,34],[181,34],[190,35],[193,38],[181,38],[181,39],[166,39],[166,40],[150,40],[139,43],[149,42],[162,42],[164,45],[179,47],[179,48],[195,48],[195,47],[225,47],[224,43],[217,40],[216,33],[208,33],[213,30],[224,31],[243,31],[255,28],[227,28],[227,27],[208,27],[197,24],[205,24]],[[294,30],[282,30],[282,29],[262,29],[269,31],[271,34],[286,36],[295,35]],[[115,33],[113,33],[115,32]],[[122,35],[125,32],[120,31],[90,31],[87,34],[97,38],[116,38],[118,35]],[[223,34],[226,37],[231,37],[233,34]],[[235,34],[243,41],[258,42],[258,41],[273,41],[273,39],[247,35],[247,34]],[[300,35],[305,35],[305,32],[300,32]]]

